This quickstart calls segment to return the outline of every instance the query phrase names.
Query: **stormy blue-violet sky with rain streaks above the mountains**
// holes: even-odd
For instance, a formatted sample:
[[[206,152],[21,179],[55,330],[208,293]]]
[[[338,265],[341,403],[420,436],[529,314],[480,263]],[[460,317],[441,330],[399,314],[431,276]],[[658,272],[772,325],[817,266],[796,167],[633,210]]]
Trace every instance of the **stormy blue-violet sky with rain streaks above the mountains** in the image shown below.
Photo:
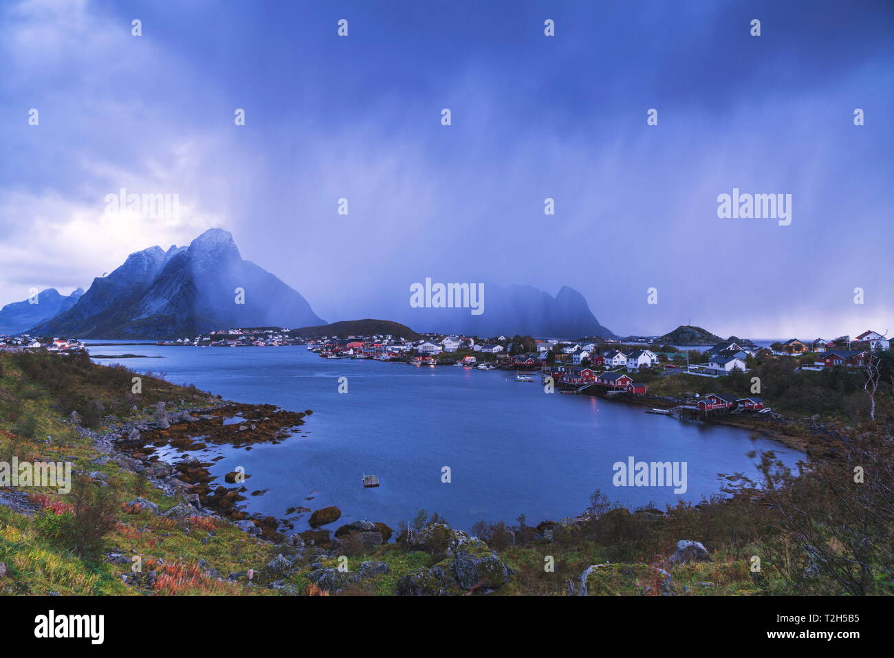
[[[432,277],[620,334],[890,335],[892,33],[871,0],[4,0],[0,305],[217,226],[328,321]]]

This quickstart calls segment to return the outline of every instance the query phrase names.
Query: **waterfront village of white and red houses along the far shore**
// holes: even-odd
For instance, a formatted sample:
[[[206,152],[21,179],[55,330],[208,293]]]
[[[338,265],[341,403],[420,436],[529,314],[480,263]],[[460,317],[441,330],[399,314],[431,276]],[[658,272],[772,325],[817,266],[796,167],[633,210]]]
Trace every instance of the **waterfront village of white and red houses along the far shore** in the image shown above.
[[[480,339],[439,333],[417,334],[413,339],[390,333],[312,337],[300,335],[297,330],[271,327],[222,329],[154,344],[199,348],[303,346],[322,359],[375,359],[416,367],[510,370],[519,383],[534,383],[539,375],[541,384],[561,393],[626,394],[622,395],[624,398],[645,396],[649,392],[648,381],[681,374],[707,378],[746,374],[766,359],[789,358],[794,373],[833,368],[856,372],[865,367],[870,354],[890,350],[889,339],[873,331],[865,331],[853,339],[849,336],[834,340],[789,339],[763,347],[732,336],[707,350],[662,345],[655,336],[582,341],[505,335]],[[0,350],[65,354],[85,349],[83,342],[73,339],[0,335]],[[670,413],[666,409],[653,410]],[[681,417],[693,412],[704,416],[770,411],[759,395],[737,396],[728,392],[707,392],[672,410],[678,411]]]

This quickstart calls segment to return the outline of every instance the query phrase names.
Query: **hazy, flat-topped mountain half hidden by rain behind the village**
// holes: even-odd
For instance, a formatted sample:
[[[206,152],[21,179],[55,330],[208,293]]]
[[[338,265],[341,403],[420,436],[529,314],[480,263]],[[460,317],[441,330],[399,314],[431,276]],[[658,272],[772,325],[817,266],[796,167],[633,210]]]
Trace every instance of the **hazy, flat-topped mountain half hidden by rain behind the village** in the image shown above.
[[[502,334],[570,339],[615,337],[599,323],[584,296],[568,286],[563,286],[555,297],[529,285],[485,283],[484,291],[481,315],[472,315],[468,308],[409,308],[409,304],[388,315],[421,332],[483,337]]]

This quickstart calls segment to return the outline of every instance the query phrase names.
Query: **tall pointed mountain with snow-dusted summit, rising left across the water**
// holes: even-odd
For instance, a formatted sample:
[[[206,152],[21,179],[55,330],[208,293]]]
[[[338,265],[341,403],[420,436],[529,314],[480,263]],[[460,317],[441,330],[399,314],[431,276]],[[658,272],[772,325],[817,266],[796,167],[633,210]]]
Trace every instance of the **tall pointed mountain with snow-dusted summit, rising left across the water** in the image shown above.
[[[174,338],[233,326],[323,325],[307,300],[242,260],[229,232],[210,229],[189,247],[151,247],[93,280],[72,308],[32,335]]]

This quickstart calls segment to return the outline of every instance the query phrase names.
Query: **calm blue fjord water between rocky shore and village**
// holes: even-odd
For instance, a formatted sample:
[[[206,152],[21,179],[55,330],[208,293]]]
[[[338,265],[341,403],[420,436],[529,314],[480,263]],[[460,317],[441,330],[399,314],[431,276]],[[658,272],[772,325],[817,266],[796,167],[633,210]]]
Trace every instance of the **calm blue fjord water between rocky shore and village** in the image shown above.
[[[164,373],[233,401],[312,409],[299,432],[278,445],[191,453],[203,460],[223,455],[211,468],[221,484],[223,474],[245,468],[249,492],[269,489],[249,495],[248,510],[278,518],[291,507],[337,505],[340,523],[369,519],[396,527],[421,508],[467,529],[481,519],[514,523],[522,513],[536,524],[586,510],[597,488],[628,506],[663,508],[718,493],[718,474],[756,476],[747,451],[776,451],[789,466],[802,457],[732,427],[681,422],[587,395],[546,394],[540,384],[518,383],[499,370],[327,360],[303,347],[105,344],[90,351],[161,356],[99,362]],[[347,393],[338,392],[342,376]],[[687,462],[687,492],[613,486],[612,465],[630,456]],[[449,484],[442,482],[444,466],[451,468]],[[382,485],[365,489],[364,474],[379,476]],[[306,529],[307,519],[296,529]]]

